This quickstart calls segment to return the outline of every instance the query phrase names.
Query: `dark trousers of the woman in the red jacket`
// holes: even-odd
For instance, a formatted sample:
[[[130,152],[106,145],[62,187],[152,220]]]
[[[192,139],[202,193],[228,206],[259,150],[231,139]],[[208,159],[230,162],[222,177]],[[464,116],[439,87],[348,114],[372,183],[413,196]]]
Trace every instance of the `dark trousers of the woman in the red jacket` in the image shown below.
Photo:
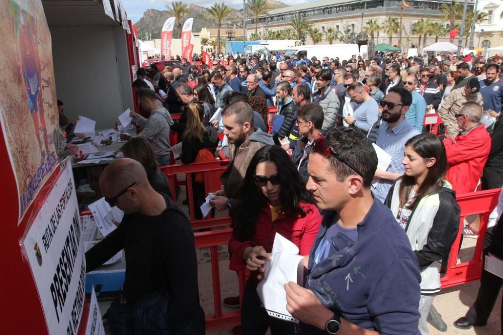
[[[269,316],[261,304],[257,284],[250,277],[246,282],[241,306],[241,335],[262,335],[269,327],[272,335],[294,334],[294,323]]]

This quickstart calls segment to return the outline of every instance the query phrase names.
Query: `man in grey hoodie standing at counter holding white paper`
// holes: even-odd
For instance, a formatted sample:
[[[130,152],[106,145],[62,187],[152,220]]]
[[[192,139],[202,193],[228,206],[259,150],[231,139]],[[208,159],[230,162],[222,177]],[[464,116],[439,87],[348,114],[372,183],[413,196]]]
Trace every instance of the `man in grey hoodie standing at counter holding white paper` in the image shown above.
[[[173,119],[164,107],[159,107],[155,103],[155,92],[145,88],[138,92],[138,100],[143,109],[150,112],[150,118],[145,119],[141,115],[131,112],[131,117],[143,130],[137,136],[147,139],[154,148],[157,162],[160,166],[170,163],[170,127]],[[121,134],[121,140],[127,141],[131,136]]]

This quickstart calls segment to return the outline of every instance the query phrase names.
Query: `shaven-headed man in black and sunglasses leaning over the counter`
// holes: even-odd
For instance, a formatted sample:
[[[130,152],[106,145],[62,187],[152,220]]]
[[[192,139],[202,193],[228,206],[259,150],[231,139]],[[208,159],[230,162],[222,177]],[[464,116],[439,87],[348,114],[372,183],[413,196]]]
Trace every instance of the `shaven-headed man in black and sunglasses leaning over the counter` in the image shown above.
[[[152,188],[145,169],[133,159],[112,162],[99,185],[110,206],[124,211],[117,229],[86,252],[88,272],[122,249],[126,254],[121,302],[108,310],[113,332],[204,334],[194,233],[187,216]]]

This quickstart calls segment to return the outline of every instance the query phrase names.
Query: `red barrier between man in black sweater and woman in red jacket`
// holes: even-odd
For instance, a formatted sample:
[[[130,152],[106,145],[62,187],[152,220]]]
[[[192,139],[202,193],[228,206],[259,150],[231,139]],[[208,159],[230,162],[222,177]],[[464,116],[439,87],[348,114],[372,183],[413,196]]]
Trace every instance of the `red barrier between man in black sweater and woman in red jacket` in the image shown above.
[[[211,232],[195,233],[196,249],[209,248],[211,257],[211,275],[213,284],[213,307],[215,314],[206,316],[206,331],[230,328],[241,323],[241,311],[222,313],[222,296],[220,293],[220,268],[218,266],[218,246],[227,245],[232,234],[232,229],[219,229]],[[240,271],[239,296],[244,293],[246,273]]]

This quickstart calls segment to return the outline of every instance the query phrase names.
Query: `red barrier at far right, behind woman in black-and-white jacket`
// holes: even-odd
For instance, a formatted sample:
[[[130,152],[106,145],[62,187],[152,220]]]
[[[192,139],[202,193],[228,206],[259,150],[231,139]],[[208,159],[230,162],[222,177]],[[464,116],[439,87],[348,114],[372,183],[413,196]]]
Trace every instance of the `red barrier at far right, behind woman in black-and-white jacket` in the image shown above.
[[[487,221],[489,214],[494,209],[498,202],[500,188],[460,194],[456,197],[459,206],[461,207],[461,217],[459,224],[459,232],[456,241],[451,248],[449,261],[447,263],[447,272],[440,280],[442,288],[461,285],[473,280],[480,279],[482,271],[482,243],[484,241],[485,231],[487,229]],[[473,252],[473,258],[468,262],[456,264],[458,259],[459,246],[461,244],[461,236],[463,234],[463,221],[466,216],[480,214],[480,229],[478,231],[477,244]]]

